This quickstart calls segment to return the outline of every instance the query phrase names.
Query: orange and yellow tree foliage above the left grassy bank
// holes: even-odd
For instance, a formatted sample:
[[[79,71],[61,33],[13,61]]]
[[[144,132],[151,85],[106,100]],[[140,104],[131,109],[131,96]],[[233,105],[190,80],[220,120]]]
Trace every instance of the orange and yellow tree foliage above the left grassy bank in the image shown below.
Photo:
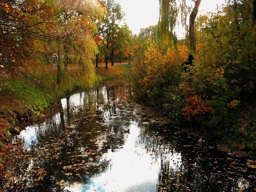
[[[93,39],[96,20],[99,22],[105,12],[100,3],[93,0],[2,0],[1,73],[33,80],[30,71],[52,64],[54,58],[59,58],[55,59],[60,68],[58,77],[67,69],[67,64],[82,67],[85,63],[91,64],[97,50]]]

